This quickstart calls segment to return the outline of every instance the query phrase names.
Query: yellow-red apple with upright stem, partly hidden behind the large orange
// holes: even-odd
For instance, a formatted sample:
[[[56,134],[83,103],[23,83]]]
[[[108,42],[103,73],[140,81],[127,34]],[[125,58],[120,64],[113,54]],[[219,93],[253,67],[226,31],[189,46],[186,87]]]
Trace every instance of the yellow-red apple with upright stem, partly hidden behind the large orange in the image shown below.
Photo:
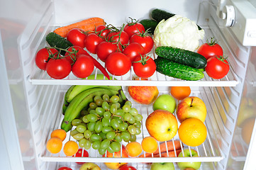
[[[176,114],[180,123],[187,118],[197,118],[204,123],[207,114],[206,105],[201,98],[189,96],[178,104]]]

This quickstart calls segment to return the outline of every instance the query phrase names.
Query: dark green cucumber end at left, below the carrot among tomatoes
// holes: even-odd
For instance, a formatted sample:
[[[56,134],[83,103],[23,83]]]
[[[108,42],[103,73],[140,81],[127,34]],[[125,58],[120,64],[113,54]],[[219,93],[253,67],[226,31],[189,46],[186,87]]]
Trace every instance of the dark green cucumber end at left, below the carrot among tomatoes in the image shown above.
[[[72,43],[69,42],[69,40],[67,40],[66,38],[63,38],[62,36],[58,35],[57,33],[48,33],[48,35],[46,35],[46,41],[48,42],[48,44],[50,45],[50,47],[58,47],[58,48],[62,48],[62,49],[67,49],[69,47],[72,47]],[[61,55],[65,55],[65,51],[64,50],[60,50],[60,54]]]

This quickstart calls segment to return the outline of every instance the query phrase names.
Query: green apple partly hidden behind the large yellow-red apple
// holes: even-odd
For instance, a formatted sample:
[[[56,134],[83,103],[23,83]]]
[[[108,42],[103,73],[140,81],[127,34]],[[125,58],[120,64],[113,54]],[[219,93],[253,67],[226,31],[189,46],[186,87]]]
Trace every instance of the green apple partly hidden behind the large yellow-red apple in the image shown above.
[[[156,111],[158,109],[169,111],[170,113],[174,113],[176,108],[176,101],[169,94],[162,94],[157,97],[155,102],[153,103],[153,110]]]

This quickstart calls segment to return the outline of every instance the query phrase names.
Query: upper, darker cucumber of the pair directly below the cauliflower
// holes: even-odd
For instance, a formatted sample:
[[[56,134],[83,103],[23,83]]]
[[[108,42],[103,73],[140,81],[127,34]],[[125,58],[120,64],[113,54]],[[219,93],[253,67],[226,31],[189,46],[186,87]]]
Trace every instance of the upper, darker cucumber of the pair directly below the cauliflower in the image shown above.
[[[203,55],[177,47],[160,46],[155,49],[155,54],[179,64],[185,64],[196,69],[204,69],[207,60]]]

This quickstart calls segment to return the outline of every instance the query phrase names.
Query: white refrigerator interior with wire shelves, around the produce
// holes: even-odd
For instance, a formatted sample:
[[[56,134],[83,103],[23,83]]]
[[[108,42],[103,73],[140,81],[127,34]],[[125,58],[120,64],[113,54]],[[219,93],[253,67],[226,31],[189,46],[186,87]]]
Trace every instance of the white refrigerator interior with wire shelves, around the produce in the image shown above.
[[[118,8],[116,7],[118,6]],[[75,162],[96,162],[101,169],[106,169],[104,162],[128,162],[136,169],[150,169],[146,162],[202,162],[200,169],[243,169],[246,162],[247,151],[250,144],[250,135],[255,120],[255,72],[256,49],[244,46],[231,28],[223,26],[223,20],[216,15],[218,1],[196,0],[189,1],[82,1],[82,0],[53,0],[53,1],[9,1],[0,7],[0,42],[3,46],[1,56],[4,56],[11,94],[13,115],[3,115],[1,123],[10,123],[15,118],[13,132],[13,145],[21,150],[15,156],[22,157],[21,164],[24,169],[58,169],[60,166],[69,166],[79,169]],[[7,8],[12,8],[7,11]],[[200,81],[182,81],[166,77],[156,72],[150,81],[134,81],[133,69],[116,80],[82,80],[74,75],[61,80],[51,79],[46,72],[35,66],[35,54],[45,47],[45,36],[59,26],[99,16],[106,23],[121,26],[128,17],[148,18],[150,9],[162,8],[177,13],[195,21],[205,30],[204,40],[214,37],[223,47],[224,54],[228,56],[230,72],[221,80],[208,77]],[[1,48],[0,48],[1,49]],[[156,57],[152,52],[152,57]],[[96,55],[93,55],[96,58]],[[104,65],[103,62],[101,64]],[[4,69],[2,67],[2,69]],[[94,74],[101,74],[94,69]],[[199,157],[150,157],[150,158],[103,158],[94,149],[89,149],[89,157],[66,157],[63,152],[50,154],[46,150],[46,141],[50,132],[60,128],[62,121],[62,104],[65,92],[73,84],[83,85],[121,85],[127,93],[127,86],[157,86],[160,94],[169,93],[169,86],[191,86],[191,96],[199,96],[207,108],[206,141],[195,149]],[[130,98],[130,101],[133,101]],[[177,101],[178,102],[178,101]],[[137,141],[148,136],[145,128],[145,119],[152,113],[152,105],[143,106],[133,102],[143,115],[142,133]],[[8,111],[8,110],[7,110]],[[253,120],[246,128],[246,121]],[[3,126],[5,124],[2,124]],[[11,123],[10,123],[11,125]],[[3,128],[3,127],[2,127]],[[4,139],[8,132],[4,131]],[[247,140],[243,132],[248,132]],[[74,140],[69,133],[67,140]],[[176,135],[172,141],[179,140]],[[126,145],[126,142],[123,142]],[[143,154],[145,154],[143,152]],[[142,163],[144,162],[144,163]],[[174,164],[178,169],[177,164]],[[22,169],[22,168],[21,168]]]

